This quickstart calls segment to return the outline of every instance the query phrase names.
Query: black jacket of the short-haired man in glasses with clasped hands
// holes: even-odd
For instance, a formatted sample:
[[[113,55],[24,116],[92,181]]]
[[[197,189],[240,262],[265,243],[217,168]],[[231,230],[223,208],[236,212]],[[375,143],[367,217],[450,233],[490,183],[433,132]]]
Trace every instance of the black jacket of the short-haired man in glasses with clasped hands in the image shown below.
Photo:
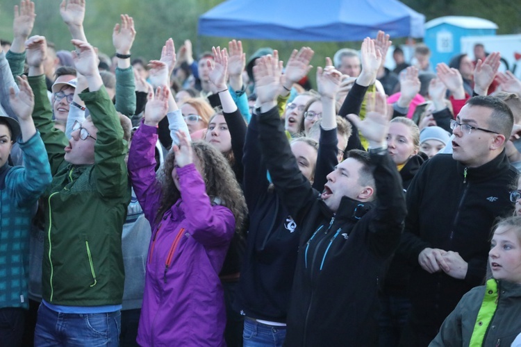
[[[516,176],[503,151],[477,168],[465,168],[452,155],[438,154],[413,178],[397,252],[413,264],[409,285],[413,312],[418,324],[433,328],[433,335],[463,294],[485,279],[490,230],[497,217],[512,215],[508,190]],[[465,280],[424,271],[418,255],[427,247],[458,252],[468,262]]]

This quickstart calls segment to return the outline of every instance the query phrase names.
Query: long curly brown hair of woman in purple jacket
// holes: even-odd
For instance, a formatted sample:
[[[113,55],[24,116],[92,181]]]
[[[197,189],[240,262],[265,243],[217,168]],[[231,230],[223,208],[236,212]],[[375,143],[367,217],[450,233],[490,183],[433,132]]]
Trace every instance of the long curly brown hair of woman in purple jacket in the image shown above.
[[[208,194],[210,200],[218,198],[220,200],[219,205],[231,210],[233,217],[235,217],[235,232],[239,232],[247,214],[247,207],[245,196],[242,194],[242,189],[235,179],[235,174],[233,174],[228,160],[207,142],[192,142],[192,150],[199,159],[203,171],[206,194]],[[170,151],[165,159],[163,198],[156,219],[163,217],[163,214],[181,198],[181,192],[177,189],[172,178],[175,156],[174,151]]]

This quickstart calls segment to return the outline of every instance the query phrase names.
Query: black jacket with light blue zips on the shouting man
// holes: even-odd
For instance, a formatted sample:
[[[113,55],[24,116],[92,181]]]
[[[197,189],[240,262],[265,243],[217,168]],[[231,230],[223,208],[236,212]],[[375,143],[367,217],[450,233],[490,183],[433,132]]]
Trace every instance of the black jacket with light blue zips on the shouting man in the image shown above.
[[[276,108],[258,117],[263,158],[301,226],[286,345],[375,344],[378,274],[406,214],[395,164],[387,153],[371,155],[379,203],[344,197],[335,215],[299,175]]]

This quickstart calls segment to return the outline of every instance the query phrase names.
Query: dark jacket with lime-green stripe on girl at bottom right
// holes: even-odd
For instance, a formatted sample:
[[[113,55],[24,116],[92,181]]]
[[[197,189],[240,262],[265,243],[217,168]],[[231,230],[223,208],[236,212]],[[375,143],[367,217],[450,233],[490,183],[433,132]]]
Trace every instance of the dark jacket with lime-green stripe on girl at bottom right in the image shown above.
[[[511,346],[521,339],[520,317],[521,285],[491,279],[461,298],[429,347]]]

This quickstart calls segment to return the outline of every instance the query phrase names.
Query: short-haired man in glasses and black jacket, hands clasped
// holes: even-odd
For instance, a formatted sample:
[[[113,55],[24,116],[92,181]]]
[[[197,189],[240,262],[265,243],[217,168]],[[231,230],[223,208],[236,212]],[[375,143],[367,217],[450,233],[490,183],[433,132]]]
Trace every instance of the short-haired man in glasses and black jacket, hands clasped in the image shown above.
[[[397,252],[416,266],[402,346],[427,346],[463,294],[483,282],[490,230],[497,217],[513,211],[508,187],[517,172],[504,151],[513,127],[508,105],[475,96],[450,127],[452,155],[429,159],[407,190],[408,215]]]

